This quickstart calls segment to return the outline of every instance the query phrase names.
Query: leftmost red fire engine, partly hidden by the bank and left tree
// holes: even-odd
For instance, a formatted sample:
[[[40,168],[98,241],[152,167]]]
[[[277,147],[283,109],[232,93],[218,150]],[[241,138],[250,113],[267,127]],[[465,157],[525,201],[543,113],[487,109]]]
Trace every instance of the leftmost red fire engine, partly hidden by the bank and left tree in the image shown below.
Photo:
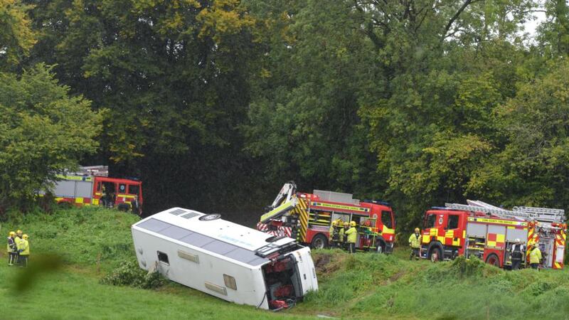
[[[58,204],[73,206],[107,206],[130,210],[138,196],[139,214],[142,213],[142,181],[109,178],[107,166],[83,166],[78,172],[58,175],[53,195]]]

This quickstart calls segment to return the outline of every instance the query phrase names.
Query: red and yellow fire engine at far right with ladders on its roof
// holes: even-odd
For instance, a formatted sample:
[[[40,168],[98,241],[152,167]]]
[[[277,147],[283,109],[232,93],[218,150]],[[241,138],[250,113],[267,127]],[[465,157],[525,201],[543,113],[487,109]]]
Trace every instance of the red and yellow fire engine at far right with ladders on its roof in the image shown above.
[[[563,268],[567,229],[564,210],[504,210],[482,201],[468,203],[446,203],[444,208],[427,210],[421,257],[435,261],[476,256],[491,265],[510,267],[511,246],[519,239],[528,249],[538,243],[543,253],[542,267]],[[526,258],[528,255],[529,250]]]

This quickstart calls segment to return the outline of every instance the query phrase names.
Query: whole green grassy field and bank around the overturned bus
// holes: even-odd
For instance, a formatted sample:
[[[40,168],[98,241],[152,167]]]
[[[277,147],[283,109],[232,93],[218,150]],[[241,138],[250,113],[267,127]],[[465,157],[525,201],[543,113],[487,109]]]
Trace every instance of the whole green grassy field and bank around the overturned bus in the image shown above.
[[[409,261],[405,249],[393,255],[314,252],[319,292],[279,313],[172,282],[159,289],[100,284],[121,262],[134,260],[129,226],[136,220],[83,208],[2,225],[1,233],[22,228],[31,236],[31,267],[0,265],[0,319],[14,318],[16,310],[26,319],[568,319],[568,270],[509,272],[464,259],[432,264]],[[32,278],[34,262],[50,253],[63,265]],[[32,279],[33,286],[16,290],[18,277]]]

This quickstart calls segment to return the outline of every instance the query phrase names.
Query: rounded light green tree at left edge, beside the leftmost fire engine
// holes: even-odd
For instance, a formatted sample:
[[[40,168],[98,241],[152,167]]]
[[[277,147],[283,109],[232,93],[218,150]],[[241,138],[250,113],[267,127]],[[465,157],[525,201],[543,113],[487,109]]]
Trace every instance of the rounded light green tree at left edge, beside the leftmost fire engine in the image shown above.
[[[97,150],[102,112],[68,92],[46,65],[0,73],[0,213],[26,208],[55,174]]]

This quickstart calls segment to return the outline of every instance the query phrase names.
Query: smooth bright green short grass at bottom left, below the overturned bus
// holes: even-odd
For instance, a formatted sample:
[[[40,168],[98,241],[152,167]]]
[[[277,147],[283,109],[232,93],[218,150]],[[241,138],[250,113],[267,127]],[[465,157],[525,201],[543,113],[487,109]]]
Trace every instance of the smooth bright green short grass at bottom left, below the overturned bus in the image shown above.
[[[11,283],[18,272],[22,270],[1,265],[0,279]],[[238,306],[176,285],[158,290],[104,285],[97,277],[76,268],[48,274],[20,294],[2,286],[0,306],[0,319],[267,319],[285,316]],[[287,319],[303,317],[289,315]]]

